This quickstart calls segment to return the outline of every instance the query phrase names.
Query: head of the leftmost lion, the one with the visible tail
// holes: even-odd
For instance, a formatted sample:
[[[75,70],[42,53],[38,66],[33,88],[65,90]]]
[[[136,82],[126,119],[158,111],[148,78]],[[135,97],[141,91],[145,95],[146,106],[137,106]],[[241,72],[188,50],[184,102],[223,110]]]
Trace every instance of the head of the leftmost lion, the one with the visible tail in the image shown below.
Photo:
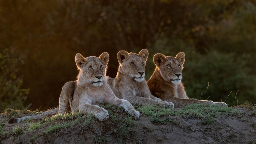
[[[81,54],[75,55],[75,63],[79,72],[79,81],[92,83],[94,86],[101,86],[106,80],[105,71],[109,61],[109,54],[102,53],[99,58],[90,56],[84,58]]]

